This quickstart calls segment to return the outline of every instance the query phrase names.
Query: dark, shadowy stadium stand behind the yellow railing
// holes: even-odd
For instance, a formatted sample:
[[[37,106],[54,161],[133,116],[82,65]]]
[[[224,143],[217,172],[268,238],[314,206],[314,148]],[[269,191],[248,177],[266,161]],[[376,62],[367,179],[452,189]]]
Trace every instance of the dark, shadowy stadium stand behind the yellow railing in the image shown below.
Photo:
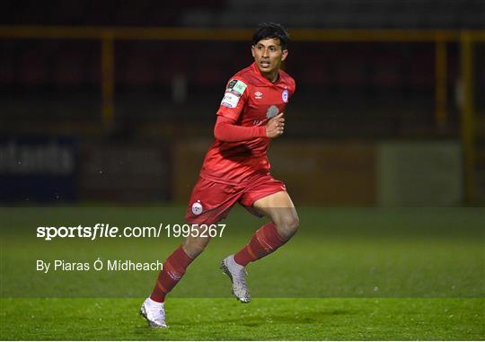
[[[483,18],[482,0],[0,3],[3,27],[176,27],[197,31],[253,28],[258,22],[275,21],[290,31],[459,31],[485,29]],[[225,82],[251,63],[246,41],[123,39],[115,40],[113,48],[116,115],[110,128],[114,132],[109,134],[133,139],[207,136]],[[483,43],[474,48],[474,86],[482,90],[485,48]],[[62,133],[68,127],[68,132],[89,131],[92,136],[105,137],[99,127],[100,39],[0,39],[0,51],[1,133]],[[294,139],[458,138],[463,103],[461,52],[459,42],[446,43],[446,118],[445,124],[437,125],[435,41],[293,41],[285,67],[298,83],[290,107],[296,115],[286,134]],[[475,106],[477,113],[485,112],[485,97],[476,96]],[[84,129],[86,125],[91,130]],[[176,133],[174,127],[179,129]],[[481,173],[485,175],[485,171]]]

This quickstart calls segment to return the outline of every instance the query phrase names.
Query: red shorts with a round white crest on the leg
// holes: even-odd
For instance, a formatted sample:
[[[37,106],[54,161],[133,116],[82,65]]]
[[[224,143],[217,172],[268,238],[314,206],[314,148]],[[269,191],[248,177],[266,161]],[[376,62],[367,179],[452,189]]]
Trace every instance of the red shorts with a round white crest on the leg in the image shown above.
[[[282,181],[275,180],[269,173],[252,176],[238,185],[218,183],[199,177],[190,195],[185,220],[190,224],[216,224],[229,215],[231,208],[239,202],[251,214],[261,216],[252,204],[258,199],[286,191]]]

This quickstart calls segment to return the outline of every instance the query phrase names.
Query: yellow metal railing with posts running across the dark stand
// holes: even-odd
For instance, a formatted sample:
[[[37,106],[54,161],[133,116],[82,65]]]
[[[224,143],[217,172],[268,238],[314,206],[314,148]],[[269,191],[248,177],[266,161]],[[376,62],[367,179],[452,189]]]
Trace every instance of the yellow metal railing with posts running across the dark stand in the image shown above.
[[[72,27],[72,26],[0,26],[0,39],[99,39],[101,41],[102,121],[110,126],[114,118],[114,40],[226,40],[249,41],[252,30],[132,28],[132,27]],[[436,46],[435,54],[435,120],[437,126],[446,122],[446,44],[460,44],[463,86],[462,139],[465,200],[473,200],[473,165],[475,162],[473,44],[485,42],[485,31],[454,30],[320,30],[295,29],[294,41],[315,42],[429,42]]]

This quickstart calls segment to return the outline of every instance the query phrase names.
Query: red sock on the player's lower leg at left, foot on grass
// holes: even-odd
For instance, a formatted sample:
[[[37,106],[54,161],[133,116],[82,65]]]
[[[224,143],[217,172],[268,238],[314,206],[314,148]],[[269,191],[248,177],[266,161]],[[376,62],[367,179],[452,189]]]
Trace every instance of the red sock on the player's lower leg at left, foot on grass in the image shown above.
[[[163,303],[165,295],[171,292],[172,288],[181,280],[192,260],[181,247],[174,250],[163,263],[163,269],[158,274],[150,298],[155,302]]]

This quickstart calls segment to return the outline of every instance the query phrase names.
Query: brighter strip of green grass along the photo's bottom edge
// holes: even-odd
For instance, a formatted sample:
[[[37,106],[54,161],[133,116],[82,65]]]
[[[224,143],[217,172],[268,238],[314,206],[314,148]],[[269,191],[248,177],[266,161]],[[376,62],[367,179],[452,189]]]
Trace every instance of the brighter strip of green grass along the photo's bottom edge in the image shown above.
[[[181,299],[169,329],[137,316],[142,299],[4,299],[1,339],[480,340],[483,299]]]

